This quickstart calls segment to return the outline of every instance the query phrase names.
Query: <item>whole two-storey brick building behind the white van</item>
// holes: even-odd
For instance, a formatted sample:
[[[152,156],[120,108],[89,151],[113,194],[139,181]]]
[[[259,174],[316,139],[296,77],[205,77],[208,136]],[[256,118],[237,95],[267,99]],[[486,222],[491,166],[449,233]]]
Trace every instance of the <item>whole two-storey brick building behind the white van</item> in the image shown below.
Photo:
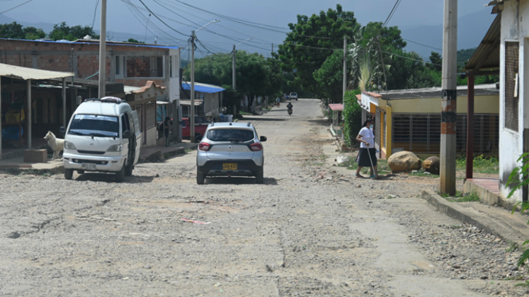
[[[147,85],[147,81],[152,81],[156,86],[166,87],[164,98],[159,100],[168,101],[171,103],[171,110],[178,111],[180,105],[178,47],[107,42],[106,50],[106,95],[125,99],[124,86],[141,88]],[[62,114],[63,108],[66,109],[68,122],[81,100],[97,96],[98,54],[98,40],[53,42],[0,39],[2,64],[75,74],[73,79],[67,80],[65,107],[61,104],[60,90],[52,86],[60,85],[60,80],[41,82],[40,86],[44,83],[48,88],[40,87],[33,97],[35,135],[47,130],[57,134],[59,127],[64,125],[62,117],[58,116]],[[16,84],[6,86],[2,90],[3,110],[8,110],[10,105],[20,104],[27,112],[25,93],[25,86]],[[143,109],[140,116],[147,118],[147,109]],[[178,118],[178,115],[171,116]],[[178,134],[178,126],[175,127],[174,132]]]

